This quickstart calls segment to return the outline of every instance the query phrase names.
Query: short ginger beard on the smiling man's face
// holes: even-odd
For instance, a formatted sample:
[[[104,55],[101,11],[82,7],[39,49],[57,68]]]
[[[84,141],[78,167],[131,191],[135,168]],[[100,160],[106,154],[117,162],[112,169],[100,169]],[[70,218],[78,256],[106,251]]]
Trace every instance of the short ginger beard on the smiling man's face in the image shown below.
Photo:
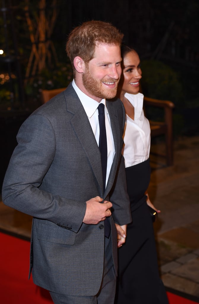
[[[104,82],[115,82],[116,86],[112,89],[106,89],[102,85],[102,81]],[[101,81],[98,81],[97,79],[93,78],[90,71],[87,68],[87,71],[85,74],[82,75],[82,82],[84,85],[84,88],[87,90],[87,92],[95,97],[98,98],[114,98],[117,94],[117,86],[118,86],[118,80],[115,80],[113,78],[108,79],[102,79]]]

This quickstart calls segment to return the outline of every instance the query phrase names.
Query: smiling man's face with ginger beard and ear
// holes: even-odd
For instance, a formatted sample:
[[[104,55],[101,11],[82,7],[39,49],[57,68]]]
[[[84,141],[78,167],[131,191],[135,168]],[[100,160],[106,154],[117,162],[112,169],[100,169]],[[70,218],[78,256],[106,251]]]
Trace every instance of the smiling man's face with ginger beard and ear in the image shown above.
[[[97,43],[94,58],[88,64],[82,66],[81,58],[76,57],[76,70],[82,72],[79,85],[81,86],[82,83],[85,94],[98,102],[102,98],[115,97],[121,76],[120,61],[119,46],[105,43]],[[76,83],[78,83],[77,77]]]

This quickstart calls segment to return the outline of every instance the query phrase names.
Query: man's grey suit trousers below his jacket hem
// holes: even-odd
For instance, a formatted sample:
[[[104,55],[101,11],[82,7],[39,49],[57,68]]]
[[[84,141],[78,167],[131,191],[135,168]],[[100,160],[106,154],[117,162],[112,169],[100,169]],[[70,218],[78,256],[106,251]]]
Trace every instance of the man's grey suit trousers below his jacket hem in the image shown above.
[[[105,237],[104,274],[98,294],[94,296],[73,296],[50,292],[50,295],[54,304],[113,304],[115,286],[116,273],[112,259],[112,239],[111,237]]]

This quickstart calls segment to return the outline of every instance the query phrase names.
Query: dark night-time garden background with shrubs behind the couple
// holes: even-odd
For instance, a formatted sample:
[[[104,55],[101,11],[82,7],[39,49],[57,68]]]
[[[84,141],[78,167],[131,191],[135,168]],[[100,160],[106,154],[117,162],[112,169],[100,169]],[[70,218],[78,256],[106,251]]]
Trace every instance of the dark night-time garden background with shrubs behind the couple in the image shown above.
[[[6,44],[8,49],[7,54],[0,55],[0,75],[10,68],[16,76],[12,83],[0,84],[1,175],[16,145],[19,126],[41,105],[40,89],[65,87],[72,80],[65,44],[70,31],[87,20],[111,22],[124,33],[124,43],[137,50],[143,93],[175,104],[174,138],[198,135],[198,0],[46,0],[46,16],[51,16],[54,9],[58,12],[49,37],[57,60],[52,56],[51,64],[46,63],[45,70],[30,79],[25,79],[32,48],[26,4],[25,0],[0,0],[0,49],[6,49]],[[28,8],[30,17],[36,19],[39,0],[28,1]],[[160,113],[153,110],[149,115],[159,119]]]

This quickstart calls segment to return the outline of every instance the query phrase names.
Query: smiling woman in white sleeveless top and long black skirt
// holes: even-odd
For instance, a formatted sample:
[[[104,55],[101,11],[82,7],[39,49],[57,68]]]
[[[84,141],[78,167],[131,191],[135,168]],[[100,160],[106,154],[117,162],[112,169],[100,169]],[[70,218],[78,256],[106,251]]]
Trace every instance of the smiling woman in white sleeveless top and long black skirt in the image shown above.
[[[122,58],[123,73],[118,97],[126,112],[123,156],[132,223],[127,226],[126,243],[118,249],[115,303],[166,304],[168,300],[158,273],[153,223],[148,210],[148,205],[154,206],[146,194],[151,173],[150,126],[143,112],[143,95],[139,93],[142,71],[135,50],[124,46]]]

